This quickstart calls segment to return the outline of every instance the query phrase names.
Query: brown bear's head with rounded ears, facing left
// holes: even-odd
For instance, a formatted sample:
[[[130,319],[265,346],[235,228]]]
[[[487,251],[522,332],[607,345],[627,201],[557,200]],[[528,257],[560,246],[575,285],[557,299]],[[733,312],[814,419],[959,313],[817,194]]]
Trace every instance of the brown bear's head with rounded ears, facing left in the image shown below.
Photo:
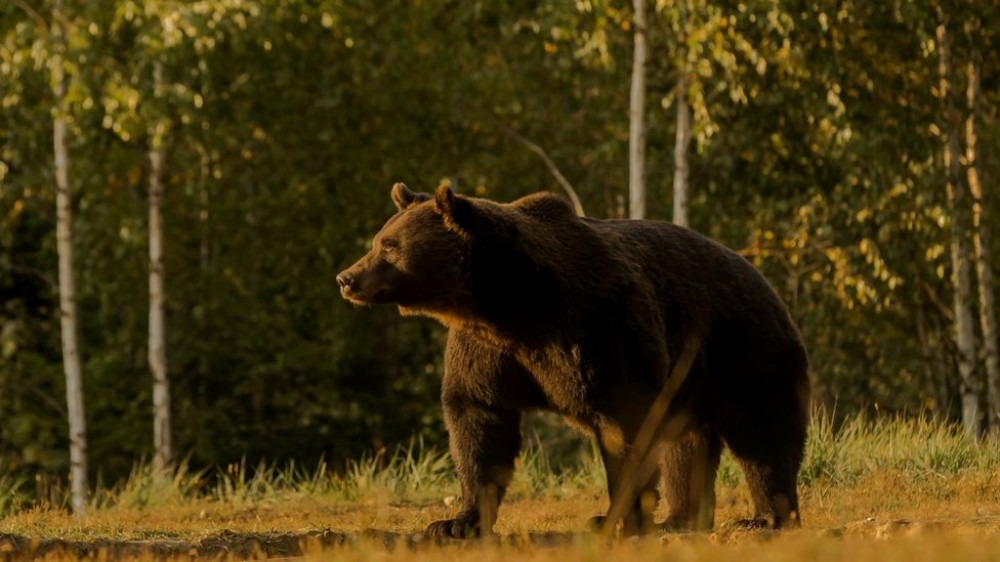
[[[404,313],[440,315],[467,306],[463,270],[470,246],[472,202],[450,188],[434,196],[392,188],[397,212],[372,240],[371,250],[337,275],[340,294],[355,304],[397,304]]]

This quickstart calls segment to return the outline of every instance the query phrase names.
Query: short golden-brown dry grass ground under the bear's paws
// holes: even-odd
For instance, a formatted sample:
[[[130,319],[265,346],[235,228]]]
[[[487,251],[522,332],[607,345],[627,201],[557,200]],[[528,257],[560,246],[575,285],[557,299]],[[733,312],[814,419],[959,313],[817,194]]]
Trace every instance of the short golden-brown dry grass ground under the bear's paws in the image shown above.
[[[260,502],[97,509],[74,517],[32,508],[0,520],[0,560],[1000,560],[1000,475],[934,479],[864,478],[850,487],[803,488],[801,529],[746,531],[745,486],[721,487],[711,533],[602,541],[587,519],[607,508],[597,492],[517,494],[501,509],[497,535],[432,541],[427,523],[447,517],[446,500],[311,496]]]

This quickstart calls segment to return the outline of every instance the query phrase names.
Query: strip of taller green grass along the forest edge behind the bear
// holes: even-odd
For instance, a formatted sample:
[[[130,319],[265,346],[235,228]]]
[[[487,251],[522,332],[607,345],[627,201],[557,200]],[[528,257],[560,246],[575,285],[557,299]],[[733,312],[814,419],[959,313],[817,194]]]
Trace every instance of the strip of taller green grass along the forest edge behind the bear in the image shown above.
[[[553,454],[559,447],[535,435],[526,439],[512,497],[600,495],[605,476],[596,448],[574,447],[572,458]],[[928,479],[971,475],[989,479],[1000,473],[1000,443],[996,436],[982,442],[968,439],[957,426],[918,418],[849,418],[835,424],[825,414],[814,416],[800,471],[804,488],[852,486],[866,477],[888,476],[919,484]],[[32,497],[26,480],[0,473],[0,515],[49,507],[65,508],[66,493],[50,487],[44,499]],[[719,485],[735,488],[742,473],[726,453]],[[221,469],[194,470],[180,463],[166,474],[150,465],[138,465],[123,482],[100,486],[91,509],[114,507],[160,509],[188,503],[224,503],[233,506],[280,503],[315,498],[330,501],[427,502],[457,496],[450,457],[415,439],[391,453],[368,455],[343,470],[325,462],[304,467],[247,462]]]

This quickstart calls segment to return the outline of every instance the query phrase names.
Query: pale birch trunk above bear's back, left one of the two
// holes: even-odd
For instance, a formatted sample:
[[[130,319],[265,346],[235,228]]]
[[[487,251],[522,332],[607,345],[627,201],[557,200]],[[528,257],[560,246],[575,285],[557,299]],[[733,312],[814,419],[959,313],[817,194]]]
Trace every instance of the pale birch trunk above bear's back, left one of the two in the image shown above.
[[[629,106],[629,218],[646,217],[646,6],[645,0],[632,0],[635,9],[632,37],[632,93]]]

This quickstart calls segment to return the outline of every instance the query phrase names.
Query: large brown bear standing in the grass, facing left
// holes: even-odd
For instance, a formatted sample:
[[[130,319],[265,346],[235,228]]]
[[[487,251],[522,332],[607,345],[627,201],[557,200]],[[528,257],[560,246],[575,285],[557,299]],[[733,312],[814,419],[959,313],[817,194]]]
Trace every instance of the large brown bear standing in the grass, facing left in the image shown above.
[[[396,304],[449,328],[442,402],[463,505],[429,535],[492,531],[531,410],[596,437],[612,507],[626,504],[611,524],[626,533],[654,528],[661,478],[662,528],[711,528],[724,445],[754,503],[742,523],[798,524],[808,360],[747,260],[670,223],[579,218],[548,193],[508,204],[448,187],[391,194],[398,212],[337,282],[353,303]],[[671,384],[654,449],[640,453],[654,469],[637,473],[629,455]],[[641,480],[627,497],[626,478]]]

